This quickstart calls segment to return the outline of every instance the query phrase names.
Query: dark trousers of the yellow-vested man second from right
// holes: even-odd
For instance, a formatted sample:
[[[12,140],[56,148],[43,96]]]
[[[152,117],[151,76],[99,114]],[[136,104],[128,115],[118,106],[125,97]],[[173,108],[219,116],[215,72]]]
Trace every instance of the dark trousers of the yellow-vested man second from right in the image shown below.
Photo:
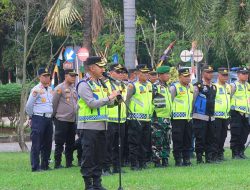
[[[222,156],[224,153],[224,143],[227,138],[229,119],[215,118],[215,138],[217,156]]]

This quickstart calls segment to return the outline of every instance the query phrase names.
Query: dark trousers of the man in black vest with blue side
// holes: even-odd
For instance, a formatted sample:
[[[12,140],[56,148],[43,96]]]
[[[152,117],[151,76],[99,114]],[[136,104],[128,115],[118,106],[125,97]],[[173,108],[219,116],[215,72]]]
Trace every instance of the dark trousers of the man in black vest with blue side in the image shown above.
[[[195,152],[202,155],[205,152],[206,160],[211,160],[216,155],[216,128],[214,121],[193,119],[195,134]]]

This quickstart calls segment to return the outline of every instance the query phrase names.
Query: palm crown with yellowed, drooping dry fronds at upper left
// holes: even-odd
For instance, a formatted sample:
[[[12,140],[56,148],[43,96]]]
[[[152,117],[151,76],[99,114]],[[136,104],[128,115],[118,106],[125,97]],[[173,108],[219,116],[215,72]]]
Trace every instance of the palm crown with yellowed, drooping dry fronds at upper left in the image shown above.
[[[80,11],[83,14],[80,14]],[[97,38],[102,28],[103,15],[100,0],[56,0],[44,23],[48,32],[64,36],[75,21],[80,22],[83,26],[82,46],[91,51],[92,41]]]

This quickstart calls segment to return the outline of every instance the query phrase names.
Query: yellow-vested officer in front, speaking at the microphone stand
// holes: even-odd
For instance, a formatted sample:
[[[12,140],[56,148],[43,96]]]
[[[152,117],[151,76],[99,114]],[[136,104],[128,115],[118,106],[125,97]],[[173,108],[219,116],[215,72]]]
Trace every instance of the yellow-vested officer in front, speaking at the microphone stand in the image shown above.
[[[78,125],[82,143],[81,173],[85,189],[105,188],[101,184],[102,165],[105,159],[107,105],[112,104],[117,91],[108,94],[101,80],[106,63],[101,57],[89,57],[86,61],[88,73],[77,85]]]

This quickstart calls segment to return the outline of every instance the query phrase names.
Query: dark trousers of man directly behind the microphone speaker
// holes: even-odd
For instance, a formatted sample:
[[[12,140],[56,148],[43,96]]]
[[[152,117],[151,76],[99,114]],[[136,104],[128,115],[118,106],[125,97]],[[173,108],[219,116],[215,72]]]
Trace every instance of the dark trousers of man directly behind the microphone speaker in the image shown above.
[[[121,152],[123,151],[125,124],[120,124],[121,129]],[[104,170],[113,165],[114,168],[119,166],[119,126],[118,123],[109,122],[106,133],[106,158],[104,161]]]

